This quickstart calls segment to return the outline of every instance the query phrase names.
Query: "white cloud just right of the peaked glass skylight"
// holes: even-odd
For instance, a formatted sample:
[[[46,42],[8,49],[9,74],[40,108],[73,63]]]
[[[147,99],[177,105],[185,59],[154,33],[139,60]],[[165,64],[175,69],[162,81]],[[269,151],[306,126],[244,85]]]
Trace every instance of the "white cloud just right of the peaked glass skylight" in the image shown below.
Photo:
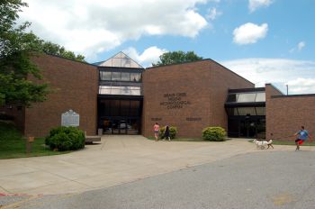
[[[127,50],[123,50],[131,59],[137,61],[144,68],[152,66],[152,63],[156,63],[159,60],[159,56],[167,52],[165,49],[159,49],[156,46],[149,47],[144,50],[142,54],[135,49],[130,47]]]

